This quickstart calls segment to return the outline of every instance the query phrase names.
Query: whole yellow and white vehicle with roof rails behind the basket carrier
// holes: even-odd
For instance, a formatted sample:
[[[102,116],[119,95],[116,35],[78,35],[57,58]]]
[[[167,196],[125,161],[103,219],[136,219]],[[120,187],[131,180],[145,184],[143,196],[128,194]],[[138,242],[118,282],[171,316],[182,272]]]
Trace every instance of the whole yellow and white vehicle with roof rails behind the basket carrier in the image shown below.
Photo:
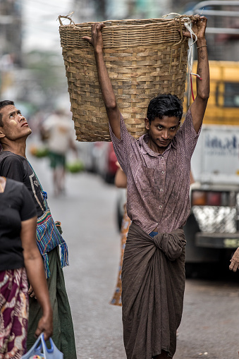
[[[191,162],[195,183],[184,227],[185,269],[187,276],[208,276],[214,269],[228,271],[239,247],[239,1],[202,1],[190,13],[207,17],[211,90]],[[196,71],[194,63],[192,73]],[[195,80],[193,90],[196,93]],[[188,95],[185,111],[187,102]]]

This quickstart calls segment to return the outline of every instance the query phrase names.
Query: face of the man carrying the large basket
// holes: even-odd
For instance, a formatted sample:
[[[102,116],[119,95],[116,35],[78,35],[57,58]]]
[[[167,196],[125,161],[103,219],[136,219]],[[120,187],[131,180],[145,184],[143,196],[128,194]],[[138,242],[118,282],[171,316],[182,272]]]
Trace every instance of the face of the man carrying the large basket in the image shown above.
[[[164,151],[176,135],[179,125],[180,121],[178,117],[164,116],[164,118],[154,118],[154,121],[152,121],[150,125],[149,120],[145,118],[145,126],[147,130],[149,130],[152,145],[157,147],[153,150],[158,149]]]

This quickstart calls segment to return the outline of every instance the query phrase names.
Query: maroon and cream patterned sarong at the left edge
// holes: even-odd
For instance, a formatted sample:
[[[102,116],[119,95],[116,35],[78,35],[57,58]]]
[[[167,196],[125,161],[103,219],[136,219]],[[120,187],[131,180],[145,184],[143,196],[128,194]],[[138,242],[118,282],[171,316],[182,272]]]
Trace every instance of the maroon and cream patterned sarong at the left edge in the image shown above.
[[[0,359],[26,351],[28,288],[25,268],[0,272]]]

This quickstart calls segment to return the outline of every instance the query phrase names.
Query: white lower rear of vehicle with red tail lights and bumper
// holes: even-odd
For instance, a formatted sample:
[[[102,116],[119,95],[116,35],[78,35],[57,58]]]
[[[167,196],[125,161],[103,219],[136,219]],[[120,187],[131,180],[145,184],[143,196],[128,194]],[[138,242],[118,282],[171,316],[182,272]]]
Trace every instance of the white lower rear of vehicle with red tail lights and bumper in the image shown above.
[[[191,169],[187,276],[199,270],[197,264],[229,265],[239,247],[239,126],[204,125]]]

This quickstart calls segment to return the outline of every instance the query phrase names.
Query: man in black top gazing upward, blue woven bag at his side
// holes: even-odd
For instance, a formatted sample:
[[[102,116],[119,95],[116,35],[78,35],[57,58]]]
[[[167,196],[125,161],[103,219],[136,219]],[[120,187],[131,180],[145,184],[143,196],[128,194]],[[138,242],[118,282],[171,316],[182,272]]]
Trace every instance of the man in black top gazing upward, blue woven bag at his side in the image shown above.
[[[53,308],[54,334],[52,339],[63,353],[64,359],[75,359],[75,338],[71,308],[68,303],[62,267],[68,265],[68,249],[51,217],[47,193],[27,161],[27,137],[32,133],[25,117],[13,101],[0,102],[0,176],[23,182],[37,209],[37,245],[44,260],[51,307]],[[61,246],[61,259],[59,257]],[[30,283],[32,284],[32,283]],[[27,331],[27,350],[35,343],[35,330],[42,312],[30,286],[30,313]]]

